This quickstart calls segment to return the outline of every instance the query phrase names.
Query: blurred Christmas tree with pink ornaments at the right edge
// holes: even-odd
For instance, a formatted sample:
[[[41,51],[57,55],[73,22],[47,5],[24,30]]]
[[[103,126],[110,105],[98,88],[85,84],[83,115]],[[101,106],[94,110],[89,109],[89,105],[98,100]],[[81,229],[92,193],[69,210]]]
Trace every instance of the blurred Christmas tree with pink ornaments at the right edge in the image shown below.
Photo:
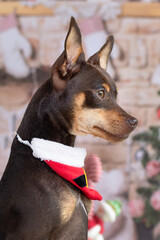
[[[143,151],[141,161],[147,186],[137,188],[140,199],[130,201],[129,210],[136,222],[154,227],[160,222],[160,127],[150,127],[135,135],[133,141],[151,145],[154,153],[151,156],[147,150]]]

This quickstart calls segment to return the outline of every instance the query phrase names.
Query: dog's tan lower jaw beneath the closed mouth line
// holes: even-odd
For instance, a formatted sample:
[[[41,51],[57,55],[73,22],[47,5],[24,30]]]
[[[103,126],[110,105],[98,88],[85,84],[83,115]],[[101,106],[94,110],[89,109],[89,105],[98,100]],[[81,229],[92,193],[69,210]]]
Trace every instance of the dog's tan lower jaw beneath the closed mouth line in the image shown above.
[[[101,137],[110,142],[121,142],[121,141],[125,140],[126,138],[128,138],[128,136],[129,136],[129,134],[124,134],[124,135],[112,134],[112,133],[109,133],[106,130],[104,130],[100,127],[97,127],[97,126],[93,127],[92,134],[96,137]]]

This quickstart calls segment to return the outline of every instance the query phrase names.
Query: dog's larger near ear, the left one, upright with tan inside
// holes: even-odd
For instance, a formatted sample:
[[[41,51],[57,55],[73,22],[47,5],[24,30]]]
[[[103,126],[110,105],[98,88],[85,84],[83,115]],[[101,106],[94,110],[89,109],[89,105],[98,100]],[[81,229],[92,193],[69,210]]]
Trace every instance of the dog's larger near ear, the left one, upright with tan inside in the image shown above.
[[[81,69],[85,61],[80,29],[73,17],[65,39],[64,52],[52,66],[52,83],[55,90],[63,90],[67,81]]]

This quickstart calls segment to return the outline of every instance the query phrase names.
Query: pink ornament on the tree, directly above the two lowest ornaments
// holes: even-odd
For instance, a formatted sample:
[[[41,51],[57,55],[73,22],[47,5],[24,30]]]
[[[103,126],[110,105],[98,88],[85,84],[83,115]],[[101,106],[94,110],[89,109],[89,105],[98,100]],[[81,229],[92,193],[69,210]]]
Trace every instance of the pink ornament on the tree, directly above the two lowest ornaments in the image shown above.
[[[157,160],[151,160],[147,163],[146,173],[148,177],[154,177],[160,173],[160,162]]]

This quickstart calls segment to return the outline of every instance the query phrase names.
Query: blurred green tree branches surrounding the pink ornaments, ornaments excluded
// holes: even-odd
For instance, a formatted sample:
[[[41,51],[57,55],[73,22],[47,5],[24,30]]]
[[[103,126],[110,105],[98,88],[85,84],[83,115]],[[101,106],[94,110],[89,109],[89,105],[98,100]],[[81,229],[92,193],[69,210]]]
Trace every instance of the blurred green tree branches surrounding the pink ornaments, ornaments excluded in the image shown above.
[[[160,91],[158,93],[160,95]],[[153,149],[153,155],[150,156],[148,151],[144,153],[142,165],[146,169],[147,163],[151,160],[160,161],[160,127],[150,127],[148,131],[139,133],[133,137],[133,142],[146,143]],[[135,222],[143,223],[146,227],[154,227],[160,222],[160,211],[155,210],[151,205],[153,193],[160,190],[160,173],[147,178],[148,186],[137,188],[137,193],[144,200],[145,209],[141,217],[134,218]]]

